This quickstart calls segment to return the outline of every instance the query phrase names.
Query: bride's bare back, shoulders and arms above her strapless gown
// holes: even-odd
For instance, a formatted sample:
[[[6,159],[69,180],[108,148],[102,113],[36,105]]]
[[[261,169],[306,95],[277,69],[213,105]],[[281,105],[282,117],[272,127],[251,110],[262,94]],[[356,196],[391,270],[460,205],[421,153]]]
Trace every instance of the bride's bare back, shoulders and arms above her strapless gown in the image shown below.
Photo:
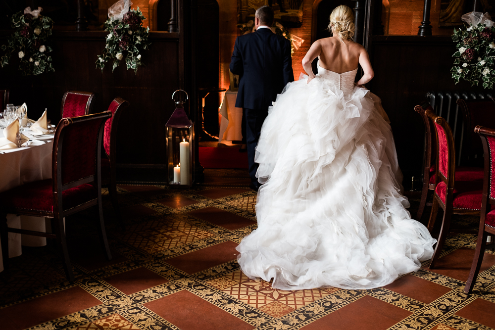
[[[353,41],[342,41],[335,36],[315,41],[302,59],[302,66],[309,75],[308,83],[314,78],[311,62],[317,56],[322,68],[336,73],[352,71],[361,64],[364,75],[357,85],[364,85],[373,78],[374,73],[366,49]]]

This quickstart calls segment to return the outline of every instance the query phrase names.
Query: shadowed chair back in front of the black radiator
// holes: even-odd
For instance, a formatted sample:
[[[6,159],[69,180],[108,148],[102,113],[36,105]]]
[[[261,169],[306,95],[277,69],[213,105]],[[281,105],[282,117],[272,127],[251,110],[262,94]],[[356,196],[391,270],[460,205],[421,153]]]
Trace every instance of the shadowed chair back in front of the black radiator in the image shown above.
[[[495,98],[458,99],[462,110],[464,136],[458,161],[463,165],[483,167],[483,144],[474,132],[478,125],[495,127]],[[468,133],[469,132],[469,133]]]

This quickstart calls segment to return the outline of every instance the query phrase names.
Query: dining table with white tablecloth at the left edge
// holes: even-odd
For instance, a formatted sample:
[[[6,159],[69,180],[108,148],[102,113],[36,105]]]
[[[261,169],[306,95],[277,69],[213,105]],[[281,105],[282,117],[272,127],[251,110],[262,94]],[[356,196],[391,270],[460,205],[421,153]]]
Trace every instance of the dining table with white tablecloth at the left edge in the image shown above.
[[[54,134],[51,132],[36,135],[28,128],[24,128],[22,134],[29,139],[23,146],[4,145],[0,147],[0,192],[29,182],[51,178],[51,151]],[[0,129],[0,137],[3,136],[3,130]],[[7,215],[7,226],[10,228],[46,232],[47,223],[49,225],[49,221],[45,218]],[[46,244],[46,237],[8,233],[9,258],[21,255],[22,245],[44,246]],[[3,259],[0,253],[1,271],[3,271]]]

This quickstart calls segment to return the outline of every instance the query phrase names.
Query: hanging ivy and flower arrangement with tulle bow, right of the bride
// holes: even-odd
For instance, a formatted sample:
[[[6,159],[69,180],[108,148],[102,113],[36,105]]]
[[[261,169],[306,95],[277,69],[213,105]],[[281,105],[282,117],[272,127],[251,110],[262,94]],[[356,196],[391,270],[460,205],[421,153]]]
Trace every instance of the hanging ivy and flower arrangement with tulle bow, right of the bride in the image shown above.
[[[462,15],[465,24],[454,29],[452,40],[457,43],[454,66],[450,70],[457,84],[459,79],[477,86],[482,81],[484,89],[491,89],[495,82],[495,27],[488,13],[470,12]]]

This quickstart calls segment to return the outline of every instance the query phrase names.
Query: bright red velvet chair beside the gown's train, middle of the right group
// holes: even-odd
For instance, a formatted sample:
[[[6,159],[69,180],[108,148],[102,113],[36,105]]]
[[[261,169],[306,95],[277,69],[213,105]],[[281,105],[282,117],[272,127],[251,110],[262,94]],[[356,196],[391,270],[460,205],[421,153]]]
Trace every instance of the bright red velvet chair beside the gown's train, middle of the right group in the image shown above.
[[[448,233],[473,233],[472,231],[465,230],[450,230],[450,218],[452,214],[480,215],[483,182],[469,180],[469,177],[463,178],[463,181],[454,180],[454,173],[456,177],[457,173],[455,172],[454,138],[450,126],[444,118],[436,116],[429,109],[426,110],[425,114],[434,124],[438,150],[435,193],[430,220],[428,222],[430,232],[435,224],[439,206],[444,210],[442,228],[440,229],[437,246],[435,247],[435,252],[429,266],[430,269],[433,269],[438,257],[442,253]],[[477,172],[468,172],[469,175],[472,175],[473,179],[477,179]]]

